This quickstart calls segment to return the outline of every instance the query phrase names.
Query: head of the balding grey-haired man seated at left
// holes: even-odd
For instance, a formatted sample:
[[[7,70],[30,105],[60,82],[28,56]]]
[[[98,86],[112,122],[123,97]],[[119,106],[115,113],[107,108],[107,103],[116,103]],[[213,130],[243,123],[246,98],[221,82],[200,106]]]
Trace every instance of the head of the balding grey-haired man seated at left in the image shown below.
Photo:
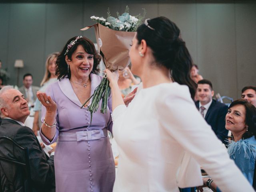
[[[22,93],[16,89],[10,89],[6,90],[1,97],[7,104],[6,107],[0,109],[2,114],[24,123],[30,111],[28,109],[28,102]]]

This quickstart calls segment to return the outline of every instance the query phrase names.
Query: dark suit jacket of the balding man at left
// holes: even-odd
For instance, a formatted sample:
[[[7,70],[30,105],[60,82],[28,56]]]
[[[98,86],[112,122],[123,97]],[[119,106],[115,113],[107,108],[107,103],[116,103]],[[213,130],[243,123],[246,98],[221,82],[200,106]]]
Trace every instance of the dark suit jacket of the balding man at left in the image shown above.
[[[48,156],[42,150],[38,139],[36,138],[33,131],[26,127],[21,126],[14,120],[2,119],[2,124],[0,126],[0,136],[7,136],[16,141],[20,146],[27,147],[29,153],[30,161],[30,172],[32,179],[33,192],[54,192],[55,191],[55,177],[54,177],[54,156]],[[1,142],[1,141],[0,141]],[[4,156],[8,154],[8,157],[25,162],[24,155],[21,154],[19,150],[14,150],[11,144],[1,144],[0,143],[0,155]],[[0,167],[0,191],[7,192],[4,189],[4,183],[8,183]],[[4,165],[4,170],[6,174],[12,178],[17,174],[18,181],[22,180],[21,170],[14,168],[10,164]],[[8,176],[7,176],[8,177]],[[14,184],[16,187],[21,185],[20,182]],[[16,190],[17,192],[21,190]]]

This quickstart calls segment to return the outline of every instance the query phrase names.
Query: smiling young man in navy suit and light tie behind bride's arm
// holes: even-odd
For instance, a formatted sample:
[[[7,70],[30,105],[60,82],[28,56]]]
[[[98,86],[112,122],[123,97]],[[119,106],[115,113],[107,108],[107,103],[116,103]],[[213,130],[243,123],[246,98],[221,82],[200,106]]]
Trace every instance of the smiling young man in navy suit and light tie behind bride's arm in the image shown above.
[[[228,112],[228,106],[212,99],[214,91],[209,80],[203,79],[198,81],[196,94],[199,99],[196,101],[196,107],[199,112],[212,127],[216,136],[224,144],[227,144],[225,140],[228,138],[228,130],[225,128],[225,117]]]

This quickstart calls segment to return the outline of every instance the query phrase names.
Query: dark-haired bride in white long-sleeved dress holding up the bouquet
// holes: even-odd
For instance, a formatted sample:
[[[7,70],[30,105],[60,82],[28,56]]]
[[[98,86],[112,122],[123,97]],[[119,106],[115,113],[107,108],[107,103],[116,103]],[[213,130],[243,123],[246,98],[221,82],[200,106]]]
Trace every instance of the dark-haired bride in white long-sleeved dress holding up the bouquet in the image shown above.
[[[192,60],[179,35],[178,27],[164,17],[138,27],[130,58],[143,88],[128,107],[116,73],[106,70],[120,152],[114,192],[178,192],[178,186],[199,186],[200,166],[223,192],[253,192],[196,109]]]

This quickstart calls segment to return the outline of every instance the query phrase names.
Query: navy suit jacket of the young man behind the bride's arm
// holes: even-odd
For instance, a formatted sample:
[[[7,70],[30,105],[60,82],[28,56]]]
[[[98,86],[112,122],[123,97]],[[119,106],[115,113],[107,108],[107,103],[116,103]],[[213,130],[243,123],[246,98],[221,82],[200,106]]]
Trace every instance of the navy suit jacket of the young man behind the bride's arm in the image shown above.
[[[196,108],[199,110],[199,101],[196,102]],[[228,130],[225,128],[225,117],[228,112],[228,106],[216,100],[212,100],[207,113],[204,117],[206,122],[212,127],[216,136],[227,144],[225,139],[228,138]]]

